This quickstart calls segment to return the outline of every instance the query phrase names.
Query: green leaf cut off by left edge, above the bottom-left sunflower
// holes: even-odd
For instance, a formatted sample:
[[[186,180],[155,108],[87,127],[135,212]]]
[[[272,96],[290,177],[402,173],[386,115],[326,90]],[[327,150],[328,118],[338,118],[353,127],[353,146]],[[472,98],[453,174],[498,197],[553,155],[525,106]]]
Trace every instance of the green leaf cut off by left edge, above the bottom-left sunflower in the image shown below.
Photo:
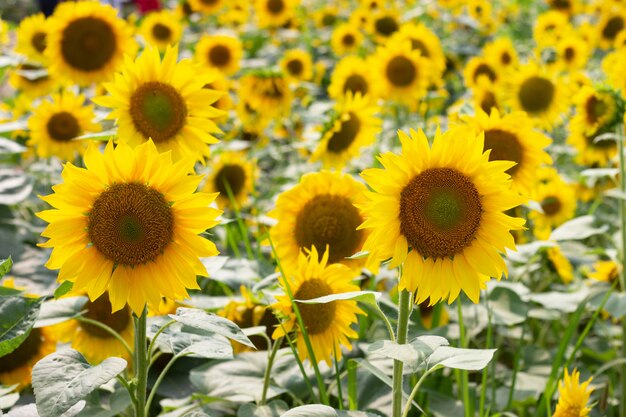
[[[0,357],[13,352],[30,334],[42,298],[0,297]]]

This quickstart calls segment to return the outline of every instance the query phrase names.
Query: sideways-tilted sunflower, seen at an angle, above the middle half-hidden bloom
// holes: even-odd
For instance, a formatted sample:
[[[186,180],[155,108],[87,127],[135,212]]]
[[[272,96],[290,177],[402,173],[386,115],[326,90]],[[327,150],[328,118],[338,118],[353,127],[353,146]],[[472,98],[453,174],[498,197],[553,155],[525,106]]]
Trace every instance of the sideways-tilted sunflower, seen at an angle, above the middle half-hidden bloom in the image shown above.
[[[378,107],[360,94],[346,95],[335,106],[311,160],[322,160],[325,168],[340,169],[358,157],[361,148],[374,143],[380,132],[382,121],[375,116],[377,112]]]

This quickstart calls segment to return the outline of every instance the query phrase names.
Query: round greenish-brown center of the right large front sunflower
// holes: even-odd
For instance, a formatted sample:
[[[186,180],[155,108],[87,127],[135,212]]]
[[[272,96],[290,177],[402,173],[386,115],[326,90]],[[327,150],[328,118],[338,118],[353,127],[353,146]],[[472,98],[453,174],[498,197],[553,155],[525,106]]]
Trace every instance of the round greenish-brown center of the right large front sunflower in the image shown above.
[[[400,193],[400,231],[425,258],[449,258],[469,246],[482,204],[472,181],[451,168],[430,168]]]

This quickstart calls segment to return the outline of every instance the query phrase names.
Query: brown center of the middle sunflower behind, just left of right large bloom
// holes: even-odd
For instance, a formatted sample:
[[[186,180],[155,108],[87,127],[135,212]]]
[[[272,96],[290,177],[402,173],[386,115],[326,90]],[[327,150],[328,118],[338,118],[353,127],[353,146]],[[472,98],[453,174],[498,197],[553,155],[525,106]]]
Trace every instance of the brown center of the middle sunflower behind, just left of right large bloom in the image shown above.
[[[301,248],[315,246],[318,253],[329,245],[329,263],[354,255],[361,244],[362,223],[359,211],[345,196],[321,194],[310,200],[298,213],[296,242]]]

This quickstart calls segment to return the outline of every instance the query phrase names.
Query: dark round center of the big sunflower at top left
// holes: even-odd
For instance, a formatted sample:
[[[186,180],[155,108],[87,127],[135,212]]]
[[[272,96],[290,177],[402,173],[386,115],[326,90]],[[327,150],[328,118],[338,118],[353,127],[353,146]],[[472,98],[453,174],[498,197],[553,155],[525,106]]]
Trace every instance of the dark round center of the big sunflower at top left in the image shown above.
[[[63,31],[61,54],[72,67],[81,71],[104,68],[117,47],[111,26],[95,17],[82,17],[71,22]]]

